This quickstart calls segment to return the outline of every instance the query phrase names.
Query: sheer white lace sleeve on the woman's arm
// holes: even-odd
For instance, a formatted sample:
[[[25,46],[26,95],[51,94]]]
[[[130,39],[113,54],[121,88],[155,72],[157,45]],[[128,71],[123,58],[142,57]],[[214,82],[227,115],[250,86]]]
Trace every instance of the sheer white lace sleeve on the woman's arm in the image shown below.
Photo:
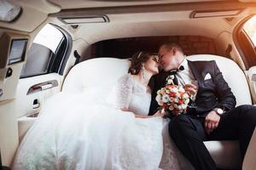
[[[120,77],[118,82],[113,87],[113,90],[108,98],[108,103],[117,109],[128,109],[132,94],[132,79],[131,75],[127,74]]]

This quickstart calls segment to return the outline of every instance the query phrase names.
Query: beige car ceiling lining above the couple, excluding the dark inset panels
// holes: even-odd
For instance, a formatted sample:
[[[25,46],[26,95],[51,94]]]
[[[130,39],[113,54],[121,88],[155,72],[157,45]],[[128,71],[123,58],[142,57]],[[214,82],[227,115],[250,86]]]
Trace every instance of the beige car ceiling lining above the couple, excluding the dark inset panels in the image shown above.
[[[221,31],[231,32],[236,23],[249,14],[256,13],[256,3],[245,0],[12,0],[20,4],[23,13],[13,23],[1,23],[0,27],[33,32],[47,22],[61,26],[72,34],[73,39],[84,37],[89,44],[108,38],[202,35],[217,37]],[[178,3],[177,3],[178,2]],[[147,5],[146,5],[147,4]],[[151,4],[151,5],[150,5]],[[241,13],[229,17],[190,19],[194,10],[241,9]],[[78,29],[63,24],[59,17],[77,17],[90,14],[107,14],[109,23],[84,24]],[[148,17],[150,16],[150,17]]]

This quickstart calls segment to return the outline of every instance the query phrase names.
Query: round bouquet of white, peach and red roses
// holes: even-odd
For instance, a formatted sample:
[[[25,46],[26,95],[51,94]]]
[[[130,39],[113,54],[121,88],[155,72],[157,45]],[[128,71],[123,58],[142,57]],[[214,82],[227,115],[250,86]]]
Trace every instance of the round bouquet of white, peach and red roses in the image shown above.
[[[189,105],[189,94],[185,92],[182,86],[174,85],[173,78],[173,75],[167,77],[166,87],[160,88],[155,98],[161,111],[164,111],[166,116],[170,112],[174,116],[184,114]]]

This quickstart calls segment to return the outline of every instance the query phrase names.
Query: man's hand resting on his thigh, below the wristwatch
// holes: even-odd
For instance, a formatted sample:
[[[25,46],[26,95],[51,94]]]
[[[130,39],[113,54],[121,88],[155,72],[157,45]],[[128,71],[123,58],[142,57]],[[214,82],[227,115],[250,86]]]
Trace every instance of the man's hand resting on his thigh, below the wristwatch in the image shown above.
[[[220,116],[215,111],[211,111],[208,113],[205,119],[205,130],[206,132],[212,133],[212,131],[218,127],[218,122],[220,120]]]

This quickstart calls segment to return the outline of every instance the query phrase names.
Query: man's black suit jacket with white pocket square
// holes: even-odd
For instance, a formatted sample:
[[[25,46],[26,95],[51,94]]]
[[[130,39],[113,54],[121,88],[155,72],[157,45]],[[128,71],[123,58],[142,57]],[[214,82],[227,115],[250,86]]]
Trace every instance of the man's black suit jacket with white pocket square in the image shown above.
[[[236,98],[231,92],[227,82],[225,82],[222,73],[219,71],[215,61],[189,61],[189,68],[198,81],[199,89],[196,94],[194,111],[188,114],[205,117],[213,108],[223,108],[224,111],[230,111],[236,106]],[[155,97],[160,88],[166,86],[166,77],[170,75],[170,71],[160,71],[158,75],[151,78],[149,86],[152,89],[152,99],[148,115],[153,115],[159,105]],[[209,73],[211,79],[205,80]]]

